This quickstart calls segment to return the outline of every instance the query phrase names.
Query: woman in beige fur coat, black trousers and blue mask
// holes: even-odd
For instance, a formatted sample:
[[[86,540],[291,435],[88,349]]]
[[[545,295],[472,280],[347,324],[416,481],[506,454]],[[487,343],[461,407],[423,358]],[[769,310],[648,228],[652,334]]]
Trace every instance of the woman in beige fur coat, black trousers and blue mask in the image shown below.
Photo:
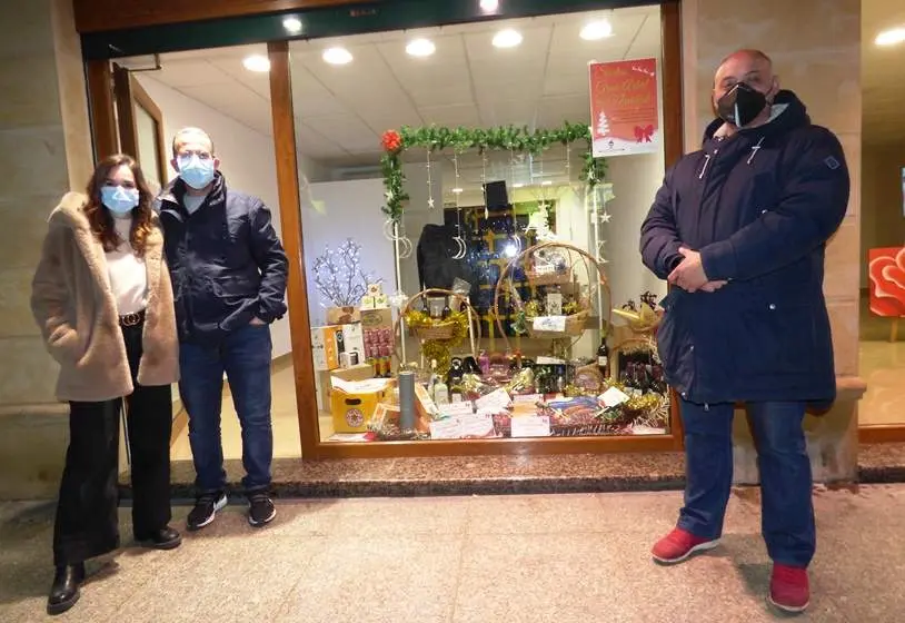
[[[79,599],[84,561],[119,546],[117,472],[125,407],[132,532],[177,547],[169,527],[170,385],[179,355],[172,286],[151,192],[129,156],[106,158],[87,195],[68,192],[50,215],[31,308],[60,364],[57,397],[70,405],[69,449],[53,531],[48,612]]]

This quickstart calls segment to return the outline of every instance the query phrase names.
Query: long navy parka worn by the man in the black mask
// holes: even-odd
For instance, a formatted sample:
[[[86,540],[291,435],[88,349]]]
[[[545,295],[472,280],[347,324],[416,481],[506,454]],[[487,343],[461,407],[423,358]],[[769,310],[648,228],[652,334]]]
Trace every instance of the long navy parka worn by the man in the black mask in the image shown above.
[[[719,140],[666,175],[642,226],[645,265],[665,279],[679,246],[700,253],[716,293],[672,288],[657,333],[667,382],[695,403],[835,397],[823,295],[826,241],[845,217],[842,146],[780,91],[772,120]]]

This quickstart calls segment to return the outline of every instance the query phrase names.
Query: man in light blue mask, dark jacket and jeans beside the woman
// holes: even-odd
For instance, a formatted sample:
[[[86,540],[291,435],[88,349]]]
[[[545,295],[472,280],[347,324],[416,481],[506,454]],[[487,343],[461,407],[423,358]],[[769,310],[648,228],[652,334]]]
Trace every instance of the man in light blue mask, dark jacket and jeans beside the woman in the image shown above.
[[[227,503],[220,438],[223,373],[242,427],[248,521],[276,516],[270,498],[270,323],[286,314],[288,261],[260,199],[228,189],[210,137],[185,128],[172,142],[179,177],[158,198],[179,332],[179,392],[189,414],[199,530]]]

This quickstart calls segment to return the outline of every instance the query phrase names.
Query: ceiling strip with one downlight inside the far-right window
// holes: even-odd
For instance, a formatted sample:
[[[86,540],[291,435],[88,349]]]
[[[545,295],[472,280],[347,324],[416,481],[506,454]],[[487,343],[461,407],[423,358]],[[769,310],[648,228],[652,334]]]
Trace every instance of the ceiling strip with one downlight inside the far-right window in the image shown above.
[[[905,43],[874,43],[879,32],[895,27],[905,27],[905,0],[862,0],[862,132],[866,144],[905,142]]]

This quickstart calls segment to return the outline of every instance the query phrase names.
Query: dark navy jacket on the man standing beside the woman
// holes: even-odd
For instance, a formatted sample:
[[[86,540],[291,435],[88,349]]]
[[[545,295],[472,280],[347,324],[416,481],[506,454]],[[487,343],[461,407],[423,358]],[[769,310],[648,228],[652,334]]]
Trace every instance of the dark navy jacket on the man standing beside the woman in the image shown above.
[[[218,171],[205,202],[189,215],[177,179],[158,197],[179,339],[216,344],[258,317],[286,314],[288,261],[260,199],[229,190]]]

